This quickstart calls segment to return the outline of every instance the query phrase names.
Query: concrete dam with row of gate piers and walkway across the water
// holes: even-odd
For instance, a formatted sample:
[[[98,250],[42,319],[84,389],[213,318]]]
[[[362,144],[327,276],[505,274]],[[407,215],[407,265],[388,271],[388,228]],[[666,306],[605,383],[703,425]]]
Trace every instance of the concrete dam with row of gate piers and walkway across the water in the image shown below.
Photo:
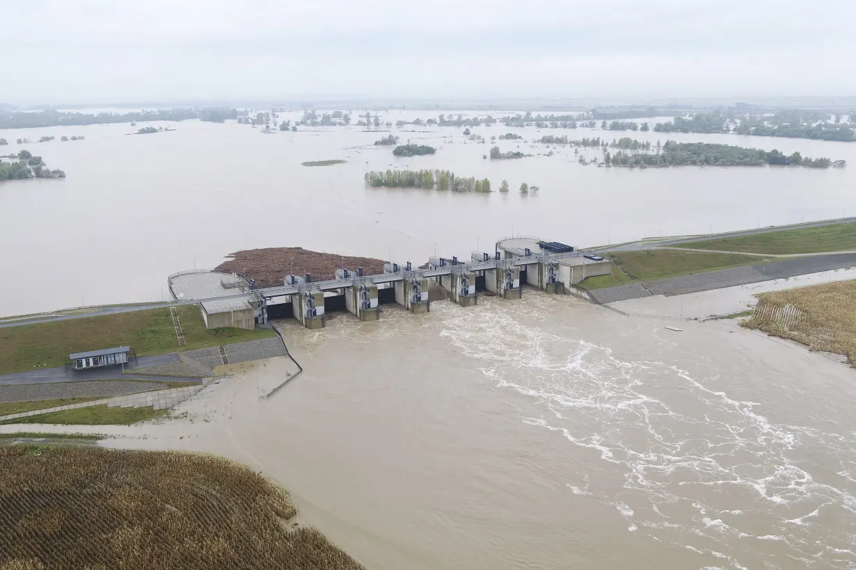
[[[176,301],[199,301],[209,311],[214,299],[225,297],[241,303],[241,309],[253,311],[253,326],[293,316],[306,328],[318,329],[332,310],[347,309],[363,321],[378,320],[380,305],[385,303],[397,303],[414,314],[427,313],[431,310],[428,290],[432,281],[449,299],[469,307],[479,303],[482,291],[508,300],[520,299],[523,285],[564,294],[586,277],[611,271],[611,262],[600,256],[558,242],[515,236],[496,242],[492,254],[473,252],[468,261],[456,256],[432,257],[423,267],[413,267],[409,261],[404,265],[390,261],[384,264],[383,273],[373,275],[364,275],[361,267],[342,267],[336,269],[334,279],[313,281],[308,273],[285,275],[282,285],[257,287],[252,279],[241,275],[193,271],[175,273],[168,281]],[[217,304],[230,307],[235,303]],[[225,326],[246,327],[247,312],[238,319],[235,309],[231,310],[220,318],[209,318],[233,323]]]

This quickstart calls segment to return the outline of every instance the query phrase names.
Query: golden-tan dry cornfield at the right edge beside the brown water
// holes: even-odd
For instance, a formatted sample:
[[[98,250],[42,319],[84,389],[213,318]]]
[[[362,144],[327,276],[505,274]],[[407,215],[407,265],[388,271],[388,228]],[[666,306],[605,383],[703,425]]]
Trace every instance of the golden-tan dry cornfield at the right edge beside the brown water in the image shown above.
[[[743,325],[845,355],[856,366],[856,280],[764,293]]]

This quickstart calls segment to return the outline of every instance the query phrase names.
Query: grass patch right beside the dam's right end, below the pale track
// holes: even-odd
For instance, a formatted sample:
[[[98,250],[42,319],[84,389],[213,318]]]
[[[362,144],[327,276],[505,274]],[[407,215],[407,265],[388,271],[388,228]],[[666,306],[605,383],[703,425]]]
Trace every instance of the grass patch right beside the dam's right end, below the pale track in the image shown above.
[[[615,262],[610,275],[590,277],[580,285],[586,289],[598,289],[634,281],[652,281],[728,267],[742,267],[775,259],[767,256],[680,250],[618,251],[609,254],[609,257]]]

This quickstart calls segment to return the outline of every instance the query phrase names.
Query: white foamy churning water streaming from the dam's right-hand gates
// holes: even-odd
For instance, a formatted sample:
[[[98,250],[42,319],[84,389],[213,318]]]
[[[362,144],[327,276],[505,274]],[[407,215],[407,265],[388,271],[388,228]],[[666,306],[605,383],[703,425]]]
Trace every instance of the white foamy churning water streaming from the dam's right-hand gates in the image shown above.
[[[483,297],[475,308],[448,304],[435,312],[443,318],[441,335],[463,354],[484,362],[479,369],[486,378],[548,413],[521,415],[523,423],[561,433],[576,448],[591,450],[613,466],[610,471],[623,473],[621,489],[596,488],[593,479],[592,488],[586,485],[584,491],[568,485],[571,492],[611,502],[631,532],[641,526],[652,538],[675,544],[697,537],[698,543],[686,548],[727,560],[732,568],[744,564],[720,550],[736,548],[743,538],[781,543],[787,551],[780,558],[818,567],[856,567],[856,556],[845,560],[851,553],[827,548],[856,531],[856,499],[847,488],[818,482],[791,459],[791,452],[800,448],[826,451],[849,475],[856,469],[853,434],[776,425],[758,413],[762,403],[711,389],[709,385],[723,384],[717,378],[694,377],[660,361],[621,360],[608,347],[523,323],[536,320],[533,312],[549,314],[555,303],[562,301],[531,295],[523,303],[502,303]],[[698,417],[699,409],[703,417]],[[740,461],[734,461],[735,455]],[[716,490],[741,497],[741,508],[719,508],[714,501],[722,493]],[[617,500],[619,494],[628,497],[628,491],[636,493],[633,508]],[[808,514],[794,517],[806,508],[811,509]],[[824,509],[841,524],[818,524]],[[758,517],[729,518],[728,523],[721,518],[749,510],[764,515],[764,532],[758,532]],[[710,549],[711,541],[721,548]],[[788,563],[777,564],[764,561],[768,567]]]

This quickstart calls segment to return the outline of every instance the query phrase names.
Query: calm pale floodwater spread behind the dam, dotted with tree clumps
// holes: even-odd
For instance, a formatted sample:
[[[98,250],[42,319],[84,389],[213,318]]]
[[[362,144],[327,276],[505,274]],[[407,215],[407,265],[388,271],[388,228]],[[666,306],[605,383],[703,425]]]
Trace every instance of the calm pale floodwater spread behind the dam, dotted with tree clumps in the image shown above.
[[[465,115],[473,115],[464,111]],[[300,114],[282,114],[295,120]],[[439,112],[392,111],[383,121],[437,118]],[[448,112],[447,112],[448,115]],[[479,113],[484,116],[484,112]],[[496,111],[494,116],[505,115]],[[355,115],[354,115],[355,117]],[[641,120],[639,120],[641,122]],[[215,267],[240,249],[301,246],[417,265],[428,256],[468,258],[497,239],[542,235],[576,246],[647,236],[725,232],[856,213],[856,144],[803,139],[598,129],[473,127],[477,144],[457,127],[299,127],[263,134],[239,125],[187,120],[146,123],[173,132],[126,136],[128,124],[3,130],[3,153],[27,148],[66,179],[0,184],[0,315],[100,303],[169,298],[166,277]],[[409,132],[412,130],[419,132]],[[397,158],[374,141],[391,131],[437,148],[434,156]],[[532,154],[490,161],[491,136],[502,151]],[[62,136],[85,140],[60,142]],[[739,144],[786,154],[828,156],[847,168],[598,168],[577,163],[574,149],[532,146],[543,135],[624,136],[665,142]],[[16,138],[55,136],[42,144]],[[550,151],[553,156],[545,156]],[[583,150],[589,160],[593,150]],[[343,159],[330,167],[300,162]],[[455,194],[366,188],[368,170],[441,168],[490,179],[508,194]],[[538,196],[521,196],[526,182]]]

